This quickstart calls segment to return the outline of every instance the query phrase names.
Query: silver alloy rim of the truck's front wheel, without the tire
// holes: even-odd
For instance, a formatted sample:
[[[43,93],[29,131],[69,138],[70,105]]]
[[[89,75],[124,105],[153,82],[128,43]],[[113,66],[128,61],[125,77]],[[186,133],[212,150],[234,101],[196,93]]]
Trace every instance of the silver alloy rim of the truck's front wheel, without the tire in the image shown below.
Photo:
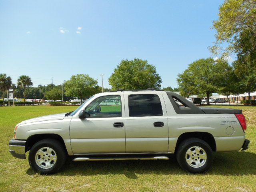
[[[49,169],[56,163],[57,154],[52,148],[43,147],[36,152],[35,160],[40,168]]]

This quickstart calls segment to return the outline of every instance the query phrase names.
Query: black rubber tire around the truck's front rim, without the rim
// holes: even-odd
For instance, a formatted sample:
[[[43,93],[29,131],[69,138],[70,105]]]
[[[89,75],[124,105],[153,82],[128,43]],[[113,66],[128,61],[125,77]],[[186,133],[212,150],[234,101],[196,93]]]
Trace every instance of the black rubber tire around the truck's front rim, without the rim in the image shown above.
[[[38,152],[38,150],[40,150],[41,148],[44,148],[44,147],[52,148],[54,150],[54,152],[56,153],[55,154],[54,152],[52,152],[53,155],[56,155],[57,158],[56,158],[55,162],[49,161],[52,166],[50,168],[41,168],[36,163],[36,153]],[[64,146],[58,140],[44,139],[44,140],[38,141],[36,144],[34,144],[32,146],[32,148],[30,149],[30,152],[29,152],[28,162],[29,162],[31,168],[40,174],[53,174],[53,173],[58,172],[58,170],[60,170],[60,168],[62,168],[62,166],[64,165],[64,163],[66,161],[66,158],[67,158],[66,150],[65,150]],[[41,166],[43,166],[43,164],[41,164]]]

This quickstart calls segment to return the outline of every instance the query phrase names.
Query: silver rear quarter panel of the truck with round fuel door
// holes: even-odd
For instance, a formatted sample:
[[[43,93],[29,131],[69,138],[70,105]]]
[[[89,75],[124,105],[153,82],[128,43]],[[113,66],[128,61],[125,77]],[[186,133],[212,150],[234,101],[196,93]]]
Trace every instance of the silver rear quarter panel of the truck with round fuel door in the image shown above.
[[[174,153],[178,137],[186,132],[212,134],[216,151],[240,150],[242,147],[245,134],[234,114],[176,114],[167,94],[164,100],[168,116],[168,152]],[[228,134],[227,128],[234,132]]]

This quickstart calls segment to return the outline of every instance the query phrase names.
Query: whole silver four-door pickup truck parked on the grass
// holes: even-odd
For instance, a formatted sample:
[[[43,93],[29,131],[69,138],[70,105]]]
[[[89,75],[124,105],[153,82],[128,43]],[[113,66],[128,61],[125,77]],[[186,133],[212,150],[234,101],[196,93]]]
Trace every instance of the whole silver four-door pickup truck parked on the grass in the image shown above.
[[[185,170],[212,164],[212,152],[246,150],[242,110],[195,106],[163,90],[118,90],[92,96],[73,112],[25,120],[14,128],[10,153],[41,174],[74,161],[168,160]]]

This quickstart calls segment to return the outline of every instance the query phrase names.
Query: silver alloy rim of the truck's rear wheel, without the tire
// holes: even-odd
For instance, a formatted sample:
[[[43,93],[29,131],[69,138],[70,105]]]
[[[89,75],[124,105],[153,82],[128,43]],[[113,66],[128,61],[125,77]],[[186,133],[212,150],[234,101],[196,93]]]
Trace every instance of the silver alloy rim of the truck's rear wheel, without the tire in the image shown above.
[[[207,155],[203,148],[193,146],[187,150],[185,158],[189,166],[199,168],[206,163]]]

